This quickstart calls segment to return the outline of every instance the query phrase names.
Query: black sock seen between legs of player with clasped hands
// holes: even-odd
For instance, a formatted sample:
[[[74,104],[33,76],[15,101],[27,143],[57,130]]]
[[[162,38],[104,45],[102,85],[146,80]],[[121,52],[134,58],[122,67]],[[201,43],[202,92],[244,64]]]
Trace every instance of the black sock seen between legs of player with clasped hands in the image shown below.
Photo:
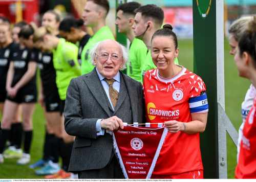
[[[12,124],[13,130],[11,131],[13,145],[20,149],[22,147],[23,127],[22,123]]]

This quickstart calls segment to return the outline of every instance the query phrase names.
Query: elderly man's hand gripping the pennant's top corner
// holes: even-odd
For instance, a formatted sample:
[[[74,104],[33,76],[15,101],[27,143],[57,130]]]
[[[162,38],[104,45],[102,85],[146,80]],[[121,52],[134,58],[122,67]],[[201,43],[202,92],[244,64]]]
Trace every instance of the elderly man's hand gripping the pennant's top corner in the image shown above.
[[[108,131],[117,130],[119,127],[123,129],[123,121],[120,118],[113,116],[111,118],[101,120],[100,127]]]

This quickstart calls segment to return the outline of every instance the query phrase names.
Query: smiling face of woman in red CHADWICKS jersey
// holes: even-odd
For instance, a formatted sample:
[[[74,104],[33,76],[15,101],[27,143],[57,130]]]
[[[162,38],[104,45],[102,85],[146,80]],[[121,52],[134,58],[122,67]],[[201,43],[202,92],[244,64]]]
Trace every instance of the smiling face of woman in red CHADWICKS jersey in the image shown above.
[[[159,71],[168,71],[174,65],[174,59],[179,50],[175,49],[175,43],[168,36],[156,36],[151,44],[151,56]]]

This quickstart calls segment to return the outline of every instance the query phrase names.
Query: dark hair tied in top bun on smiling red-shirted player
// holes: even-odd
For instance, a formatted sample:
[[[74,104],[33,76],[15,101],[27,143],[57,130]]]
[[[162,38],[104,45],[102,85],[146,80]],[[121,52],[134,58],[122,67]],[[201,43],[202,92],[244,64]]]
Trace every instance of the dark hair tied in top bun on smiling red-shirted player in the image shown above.
[[[175,49],[178,48],[177,36],[176,36],[176,34],[173,32],[173,27],[172,27],[171,25],[166,24],[166,25],[163,26],[162,29],[157,30],[157,31],[153,34],[153,36],[152,36],[152,38],[151,38],[151,41],[152,41],[155,37],[157,37],[157,36],[166,36],[166,37],[172,38],[173,41],[174,41],[174,44],[175,44]]]

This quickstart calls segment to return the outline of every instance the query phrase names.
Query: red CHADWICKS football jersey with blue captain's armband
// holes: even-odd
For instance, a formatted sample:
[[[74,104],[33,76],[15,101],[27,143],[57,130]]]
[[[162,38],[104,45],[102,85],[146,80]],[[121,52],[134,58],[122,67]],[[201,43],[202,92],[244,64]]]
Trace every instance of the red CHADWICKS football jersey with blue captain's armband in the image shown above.
[[[203,80],[182,67],[171,79],[159,76],[158,69],[144,76],[144,96],[148,123],[191,121],[190,113],[208,112]],[[172,175],[203,170],[199,133],[168,132],[153,175]]]

